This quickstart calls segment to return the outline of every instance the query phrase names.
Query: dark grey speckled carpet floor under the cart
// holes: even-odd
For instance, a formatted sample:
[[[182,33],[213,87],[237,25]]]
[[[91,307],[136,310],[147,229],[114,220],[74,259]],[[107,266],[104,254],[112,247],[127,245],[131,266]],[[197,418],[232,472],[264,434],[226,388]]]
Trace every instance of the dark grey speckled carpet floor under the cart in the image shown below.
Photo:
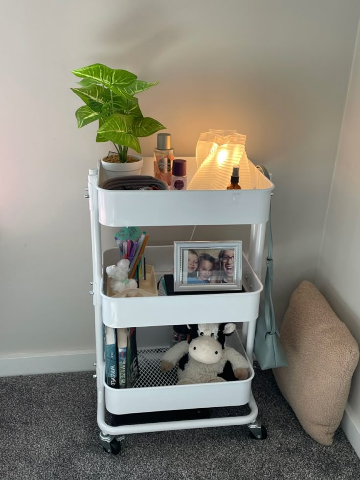
[[[256,368],[252,385],[266,440],[250,439],[245,426],[127,435],[113,456],[99,443],[90,372],[0,378],[0,479],[360,479],[360,459],[340,429],[331,447],[319,445],[270,371]]]

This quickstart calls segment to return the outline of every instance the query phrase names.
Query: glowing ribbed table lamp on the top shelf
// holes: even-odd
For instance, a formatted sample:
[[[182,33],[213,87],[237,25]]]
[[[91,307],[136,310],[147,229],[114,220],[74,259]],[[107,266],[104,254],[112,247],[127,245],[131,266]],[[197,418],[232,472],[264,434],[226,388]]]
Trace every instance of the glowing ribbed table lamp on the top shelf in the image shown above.
[[[188,190],[225,190],[233,166],[240,166],[240,185],[250,187],[250,168],[245,152],[246,135],[236,130],[209,130],[196,145],[197,172]]]

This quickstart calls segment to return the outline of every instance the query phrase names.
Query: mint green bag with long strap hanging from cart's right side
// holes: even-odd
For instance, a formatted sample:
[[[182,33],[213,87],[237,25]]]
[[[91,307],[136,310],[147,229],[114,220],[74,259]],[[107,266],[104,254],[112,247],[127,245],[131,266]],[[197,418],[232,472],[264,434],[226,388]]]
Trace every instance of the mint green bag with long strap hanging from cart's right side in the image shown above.
[[[257,165],[257,168],[270,179],[265,167]],[[266,276],[264,283],[264,299],[260,300],[259,317],[256,322],[254,352],[262,370],[288,366],[285,353],[282,349],[279,332],[276,329],[274,307],[272,304],[272,232],[271,232],[271,205],[268,222],[268,256],[266,259]]]

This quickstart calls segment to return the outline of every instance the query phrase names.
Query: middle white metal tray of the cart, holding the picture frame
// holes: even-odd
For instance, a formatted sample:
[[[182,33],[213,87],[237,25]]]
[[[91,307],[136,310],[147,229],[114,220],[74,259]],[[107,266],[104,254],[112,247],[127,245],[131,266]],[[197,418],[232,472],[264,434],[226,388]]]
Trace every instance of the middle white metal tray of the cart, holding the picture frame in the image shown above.
[[[157,272],[171,272],[173,247],[148,247],[146,263],[155,266]],[[259,311],[263,285],[243,255],[242,282],[245,291],[206,295],[174,295],[167,297],[114,298],[106,295],[106,267],[119,261],[117,248],[103,252],[103,280],[101,284],[103,322],[109,327],[144,327],[149,325],[174,325],[187,323],[192,318],[206,319],[207,323],[226,321],[253,321]]]

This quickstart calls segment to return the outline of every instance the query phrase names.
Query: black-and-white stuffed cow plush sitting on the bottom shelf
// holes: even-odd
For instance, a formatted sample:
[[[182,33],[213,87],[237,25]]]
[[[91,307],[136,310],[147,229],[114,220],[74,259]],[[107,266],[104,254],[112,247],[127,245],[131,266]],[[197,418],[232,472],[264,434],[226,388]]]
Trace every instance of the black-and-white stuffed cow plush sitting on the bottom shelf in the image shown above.
[[[226,336],[235,330],[235,323],[203,323],[188,327],[189,341],[171,347],[160,364],[164,372],[178,365],[178,385],[225,382],[221,375],[229,364],[238,380],[248,378],[245,357],[234,348],[225,346]]]

